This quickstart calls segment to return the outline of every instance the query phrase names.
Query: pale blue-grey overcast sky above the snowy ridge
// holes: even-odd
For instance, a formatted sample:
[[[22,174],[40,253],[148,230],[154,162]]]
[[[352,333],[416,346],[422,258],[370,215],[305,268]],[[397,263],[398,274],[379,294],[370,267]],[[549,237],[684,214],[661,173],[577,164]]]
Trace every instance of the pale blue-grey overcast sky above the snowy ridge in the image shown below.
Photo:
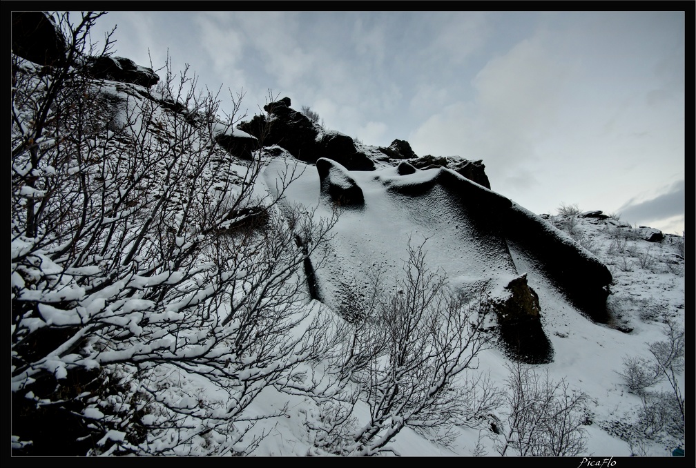
[[[226,111],[228,89],[250,118],[270,89],[367,145],[482,159],[535,213],[683,232],[684,12],[112,11],[93,39],[115,25],[117,56],[168,51]]]

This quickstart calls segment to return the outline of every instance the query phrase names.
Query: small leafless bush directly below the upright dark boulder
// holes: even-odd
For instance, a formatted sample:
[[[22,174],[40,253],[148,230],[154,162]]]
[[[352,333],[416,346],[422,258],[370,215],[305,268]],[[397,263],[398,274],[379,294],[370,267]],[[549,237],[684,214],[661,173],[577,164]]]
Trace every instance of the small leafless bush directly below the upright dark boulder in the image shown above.
[[[586,448],[585,403],[587,395],[570,388],[562,379],[554,382],[531,366],[516,362],[507,366],[509,415],[498,453],[508,449],[518,456],[576,456]]]

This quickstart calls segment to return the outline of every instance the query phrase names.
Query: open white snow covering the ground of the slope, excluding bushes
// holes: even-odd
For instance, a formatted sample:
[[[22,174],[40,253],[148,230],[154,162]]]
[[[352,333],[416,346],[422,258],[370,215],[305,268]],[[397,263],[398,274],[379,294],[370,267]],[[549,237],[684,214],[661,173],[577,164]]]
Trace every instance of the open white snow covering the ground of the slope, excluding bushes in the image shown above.
[[[272,179],[271,162],[267,177]],[[328,204],[319,193],[319,178],[313,166],[287,191],[291,202],[316,207],[317,216],[326,216]],[[417,177],[428,177],[422,171]],[[398,271],[403,264],[406,243],[411,239],[427,239],[428,264],[447,273],[450,284],[461,286],[478,277],[500,278],[526,273],[532,289],[539,295],[544,331],[553,346],[553,362],[536,366],[548,371],[552,380],[566,381],[572,388],[587,394],[584,429],[587,455],[649,455],[666,456],[677,447],[683,448],[683,433],[670,429],[673,421],[660,428],[646,427],[640,422],[644,405],[640,396],[628,391],[621,373],[627,357],[648,357],[648,345],[665,340],[665,320],[684,323],[685,259],[683,236],[667,234],[661,241],[650,242],[650,229],[633,227],[616,217],[592,218],[582,213],[572,216],[544,215],[552,229],[559,229],[606,264],[614,278],[607,305],[609,323],[595,323],[564,298],[524,250],[510,243],[512,261],[506,262],[500,252],[472,248],[461,242],[466,237],[466,219],[453,221],[448,198],[429,193],[427,197],[400,199],[385,190],[383,181],[399,177],[395,168],[376,172],[351,172],[363,188],[365,206],[345,209],[335,227],[336,236],[324,252],[327,266],[324,287],[339,278],[342,284],[354,286],[356,298],[369,291],[365,275],[372,268]],[[482,242],[481,245],[485,245]],[[326,294],[328,302],[335,296]],[[348,304],[333,304],[342,309]],[[501,387],[505,385],[508,358],[501,348],[493,346],[480,354],[479,370],[490,373]],[[662,385],[662,386],[661,386]],[[670,387],[657,385],[652,391]],[[684,376],[679,376],[681,392]],[[309,408],[308,406],[309,405]],[[273,434],[259,448],[261,455],[306,455],[312,452],[309,440],[301,434],[303,424],[315,415],[308,401],[290,404],[290,414],[274,426]],[[499,408],[496,417],[505,421],[506,409]],[[674,414],[670,414],[673,417]],[[283,426],[284,429],[281,429]],[[393,444],[400,455],[498,455],[500,437],[490,428],[459,428],[459,434],[448,446],[438,445],[411,430],[403,430]],[[289,440],[288,434],[296,435]]]

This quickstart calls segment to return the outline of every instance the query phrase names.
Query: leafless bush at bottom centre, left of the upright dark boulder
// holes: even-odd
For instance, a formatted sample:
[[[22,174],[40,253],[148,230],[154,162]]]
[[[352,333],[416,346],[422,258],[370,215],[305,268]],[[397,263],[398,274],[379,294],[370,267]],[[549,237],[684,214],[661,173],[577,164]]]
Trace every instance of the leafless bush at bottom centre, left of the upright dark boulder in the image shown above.
[[[428,271],[422,247],[409,242],[404,276],[388,291],[381,282],[373,283],[378,286],[367,313],[346,328],[332,366],[339,374],[335,382],[343,382],[331,394],[342,398],[342,423],[313,428],[324,434],[324,451],[390,451],[388,443],[406,427],[448,444],[455,425],[485,421],[500,401],[489,378],[467,373],[488,346],[481,325],[490,312],[489,300],[450,293],[445,277]],[[369,417],[347,431],[346,424],[357,424],[351,414],[358,401]],[[337,437],[340,433],[351,437]]]

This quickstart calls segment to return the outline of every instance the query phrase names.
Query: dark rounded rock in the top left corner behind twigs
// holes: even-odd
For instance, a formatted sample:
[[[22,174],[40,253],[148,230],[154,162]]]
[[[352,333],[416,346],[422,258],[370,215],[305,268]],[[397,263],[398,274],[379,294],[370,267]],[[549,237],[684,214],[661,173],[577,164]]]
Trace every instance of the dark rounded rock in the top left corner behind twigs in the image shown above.
[[[43,11],[12,13],[12,51],[39,65],[65,60],[68,45],[54,19]]]

